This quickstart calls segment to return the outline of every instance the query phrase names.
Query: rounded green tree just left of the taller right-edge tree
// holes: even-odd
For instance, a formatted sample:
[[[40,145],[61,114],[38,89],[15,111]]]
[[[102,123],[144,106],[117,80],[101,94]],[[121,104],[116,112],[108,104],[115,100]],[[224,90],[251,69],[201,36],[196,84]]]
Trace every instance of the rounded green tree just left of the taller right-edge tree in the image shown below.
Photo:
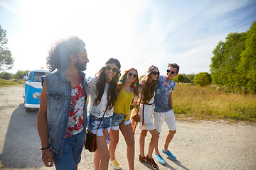
[[[235,81],[238,74],[240,54],[245,50],[246,33],[229,33],[226,41],[220,41],[213,50],[210,64],[214,84],[238,88]]]

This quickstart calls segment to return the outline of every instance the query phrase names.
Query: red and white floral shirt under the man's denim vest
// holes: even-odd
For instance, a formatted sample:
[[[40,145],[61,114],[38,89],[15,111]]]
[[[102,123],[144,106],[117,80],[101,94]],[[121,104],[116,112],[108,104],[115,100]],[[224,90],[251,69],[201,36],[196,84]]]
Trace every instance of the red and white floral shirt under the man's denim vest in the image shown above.
[[[70,115],[65,137],[76,135],[84,130],[83,110],[85,108],[85,98],[85,87],[80,79],[78,86],[73,87],[71,90]]]

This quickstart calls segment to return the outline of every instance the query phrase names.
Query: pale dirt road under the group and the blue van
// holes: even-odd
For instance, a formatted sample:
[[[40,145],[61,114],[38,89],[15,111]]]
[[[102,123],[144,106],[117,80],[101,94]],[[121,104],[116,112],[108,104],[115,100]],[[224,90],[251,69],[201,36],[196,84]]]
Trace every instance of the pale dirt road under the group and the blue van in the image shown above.
[[[37,111],[26,113],[21,86],[0,88],[0,169],[54,169],[41,162],[41,142],[36,130]],[[256,169],[256,125],[244,123],[176,121],[177,132],[169,149],[177,160],[167,159],[160,169]],[[160,135],[163,146],[166,125]],[[126,145],[122,135],[117,160],[127,168]],[[139,129],[135,134],[135,169],[151,169],[138,160]],[[146,138],[146,149],[150,135]],[[93,154],[82,152],[80,169],[93,169]],[[109,166],[109,169],[113,169]]]

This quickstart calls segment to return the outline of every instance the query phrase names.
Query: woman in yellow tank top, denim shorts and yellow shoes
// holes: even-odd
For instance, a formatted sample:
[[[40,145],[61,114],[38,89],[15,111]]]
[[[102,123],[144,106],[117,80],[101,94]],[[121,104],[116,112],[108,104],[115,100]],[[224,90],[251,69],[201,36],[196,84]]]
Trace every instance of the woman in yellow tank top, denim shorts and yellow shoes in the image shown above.
[[[121,169],[114,152],[119,140],[119,130],[124,135],[127,144],[127,159],[129,169],[134,169],[134,135],[131,121],[129,120],[129,109],[133,98],[139,95],[139,79],[137,69],[131,68],[124,71],[117,84],[117,100],[114,103],[114,113],[112,116],[112,126],[110,130],[110,164],[114,169]]]

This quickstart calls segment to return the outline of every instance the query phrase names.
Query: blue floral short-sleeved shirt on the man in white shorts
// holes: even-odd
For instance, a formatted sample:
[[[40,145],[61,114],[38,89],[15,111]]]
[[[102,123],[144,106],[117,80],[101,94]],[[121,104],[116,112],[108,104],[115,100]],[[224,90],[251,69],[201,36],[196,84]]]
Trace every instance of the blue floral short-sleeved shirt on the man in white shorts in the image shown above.
[[[174,91],[175,82],[173,80],[169,81],[165,76],[159,76],[156,81],[156,96],[154,100],[156,112],[168,112],[171,111],[169,106],[169,96]]]

